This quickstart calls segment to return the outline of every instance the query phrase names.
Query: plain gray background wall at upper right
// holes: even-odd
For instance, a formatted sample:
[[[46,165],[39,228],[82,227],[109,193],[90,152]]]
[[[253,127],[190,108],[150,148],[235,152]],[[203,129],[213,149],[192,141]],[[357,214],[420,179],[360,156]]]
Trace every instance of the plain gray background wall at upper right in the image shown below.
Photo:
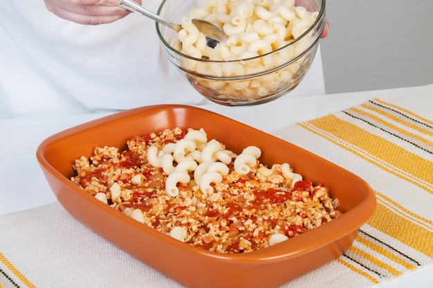
[[[326,93],[433,83],[433,0],[326,0]]]

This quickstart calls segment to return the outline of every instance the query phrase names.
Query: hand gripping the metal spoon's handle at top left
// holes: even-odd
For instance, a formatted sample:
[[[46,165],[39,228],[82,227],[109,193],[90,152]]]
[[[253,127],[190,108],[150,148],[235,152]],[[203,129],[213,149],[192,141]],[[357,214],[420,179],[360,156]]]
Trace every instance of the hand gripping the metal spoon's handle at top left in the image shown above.
[[[141,5],[141,0],[134,0]],[[130,13],[118,5],[120,0],[44,0],[48,11],[78,24],[107,24]]]

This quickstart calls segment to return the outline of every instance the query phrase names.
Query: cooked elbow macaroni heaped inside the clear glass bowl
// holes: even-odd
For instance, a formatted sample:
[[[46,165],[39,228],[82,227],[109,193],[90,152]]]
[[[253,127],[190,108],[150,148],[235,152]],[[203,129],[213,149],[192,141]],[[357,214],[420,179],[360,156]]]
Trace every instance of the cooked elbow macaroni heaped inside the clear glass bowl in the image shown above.
[[[235,77],[263,73],[287,63],[300,55],[308,45],[311,44],[311,36],[293,43],[296,54],[288,54],[286,47],[295,39],[303,35],[317,19],[318,12],[309,12],[304,7],[295,6],[294,0],[230,0],[214,1],[206,0],[201,8],[195,8],[188,17],[181,21],[183,30],[178,32],[178,39],[172,42],[172,46],[178,51],[197,59],[208,58],[210,62],[205,65],[196,64],[194,61],[185,60],[185,67],[214,77]],[[192,24],[191,19],[196,17],[212,21],[221,28],[229,37],[215,48],[206,46],[205,36]],[[299,46],[299,48],[298,48]],[[252,57],[272,53],[266,60],[257,59],[261,62],[255,64]],[[227,68],[228,63],[219,61],[247,60],[240,62],[241,67],[232,66]],[[289,68],[292,66],[291,68]],[[295,66],[295,68],[293,68]],[[217,84],[218,80],[198,78],[200,85],[214,90],[225,89],[232,97],[243,97],[249,99],[261,98],[268,95],[270,91],[279,89],[282,83],[291,83],[296,71],[304,69],[303,64],[295,62],[283,68],[295,69],[295,73],[283,73],[278,76],[270,73],[267,78],[259,77],[259,85],[250,82],[234,80],[230,83]],[[227,71],[230,70],[230,73]],[[302,73],[302,72],[301,72]],[[284,76],[284,77],[282,77]],[[296,80],[298,81],[298,80]],[[219,85],[219,87],[215,87]]]

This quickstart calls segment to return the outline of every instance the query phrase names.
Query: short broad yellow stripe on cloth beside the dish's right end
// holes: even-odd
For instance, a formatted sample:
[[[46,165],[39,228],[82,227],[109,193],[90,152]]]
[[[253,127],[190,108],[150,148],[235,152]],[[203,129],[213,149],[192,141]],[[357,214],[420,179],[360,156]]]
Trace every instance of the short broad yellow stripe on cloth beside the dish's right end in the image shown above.
[[[412,249],[428,257],[433,257],[433,232],[394,213],[380,201],[378,201],[376,210],[367,224],[394,237]]]

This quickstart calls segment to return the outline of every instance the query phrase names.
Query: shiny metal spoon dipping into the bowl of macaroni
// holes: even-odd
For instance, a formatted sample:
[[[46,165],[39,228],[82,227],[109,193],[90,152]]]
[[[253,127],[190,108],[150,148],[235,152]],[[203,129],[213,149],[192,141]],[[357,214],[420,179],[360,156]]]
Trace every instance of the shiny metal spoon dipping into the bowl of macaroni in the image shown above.
[[[121,0],[118,6],[149,17],[150,19],[153,19],[160,24],[169,26],[176,32],[179,32],[182,29],[181,25],[175,24],[172,21],[168,21],[167,19],[159,17],[158,15],[143,8],[142,6],[138,5],[138,3],[132,0]],[[203,35],[205,35],[206,39],[208,40],[208,46],[210,48],[214,48],[220,42],[223,42],[225,39],[228,38],[228,35],[224,33],[223,29],[212,23],[211,21],[196,18],[192,19],[192,24],[194,24],[197,29],[199,29],[199,31],[203,33]]]

